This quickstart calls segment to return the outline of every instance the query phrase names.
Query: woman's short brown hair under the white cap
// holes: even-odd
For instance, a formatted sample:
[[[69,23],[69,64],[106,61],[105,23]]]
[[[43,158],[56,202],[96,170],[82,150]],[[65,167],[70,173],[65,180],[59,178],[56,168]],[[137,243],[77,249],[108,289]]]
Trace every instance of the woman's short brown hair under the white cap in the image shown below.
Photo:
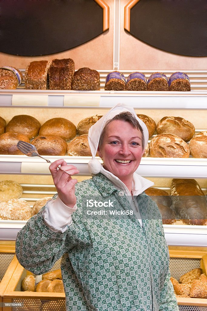
[[[106,127],[109,125],[110,122],[114,121],[114,120],[120,120],[120,121],[125,121],[128,122],[132,125],[133,128],[137,128],[137,130],[140,130],[140,132],[142,133],[142,150],[144,150],[144,136],[143,136],[143,129],[141,127],[141,125],[139,124],[139,121],[135,118],[135,116],[130,112],[130,111],[123,111],[120,112],[119,114],[115,115],[114,118],[112,118],[111,120],[108,120],[101,132],[101,136],[99,139],[99,148],[102,145],[103,142],[103,138],[106,132]]]

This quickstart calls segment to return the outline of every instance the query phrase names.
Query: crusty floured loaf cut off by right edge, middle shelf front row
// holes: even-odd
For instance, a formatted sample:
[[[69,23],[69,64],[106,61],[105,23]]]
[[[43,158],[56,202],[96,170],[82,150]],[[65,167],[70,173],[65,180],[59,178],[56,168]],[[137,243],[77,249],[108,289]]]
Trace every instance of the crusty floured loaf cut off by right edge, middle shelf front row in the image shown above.
[[[207,131],[195,135],[189,142],[189,148],[194,158],[207,158]]]

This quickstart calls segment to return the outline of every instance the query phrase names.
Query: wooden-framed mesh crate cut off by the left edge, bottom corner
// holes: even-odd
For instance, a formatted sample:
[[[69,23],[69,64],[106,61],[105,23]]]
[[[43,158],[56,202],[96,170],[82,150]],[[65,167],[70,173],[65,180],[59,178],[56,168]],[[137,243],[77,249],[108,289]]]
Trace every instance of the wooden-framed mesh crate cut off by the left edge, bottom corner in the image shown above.
[[[2,280],[0,283],[0,311],[3,310],[3,294],[17,266],[17,260],[14,258],[15,245],[12,244],[6,245],[0,242],[0,279]]]

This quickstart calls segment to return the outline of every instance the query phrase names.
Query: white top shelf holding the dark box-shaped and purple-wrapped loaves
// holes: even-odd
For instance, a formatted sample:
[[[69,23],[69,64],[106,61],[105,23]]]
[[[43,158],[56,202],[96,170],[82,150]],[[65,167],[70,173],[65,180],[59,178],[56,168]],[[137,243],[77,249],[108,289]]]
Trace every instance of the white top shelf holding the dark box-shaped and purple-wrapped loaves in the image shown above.
[[[24,69],[21,69],[24,76]],[[8,107],[68,107],[68,108],[111,108],[127,102],[134,108],[144,109],[206,109],[207,71],[179,70],[186,72],[191,81],[190,92],[173,91],[105,91],[106,76],[111,70],[100,73],[100,91],[25,90],[24,82],[16,90],[0,90],[0,106]],[[119,70],[125,78],[136,70]],[[158,70],[141,70],[148,78]],[[168,78],[178,70],[159,70]]]

